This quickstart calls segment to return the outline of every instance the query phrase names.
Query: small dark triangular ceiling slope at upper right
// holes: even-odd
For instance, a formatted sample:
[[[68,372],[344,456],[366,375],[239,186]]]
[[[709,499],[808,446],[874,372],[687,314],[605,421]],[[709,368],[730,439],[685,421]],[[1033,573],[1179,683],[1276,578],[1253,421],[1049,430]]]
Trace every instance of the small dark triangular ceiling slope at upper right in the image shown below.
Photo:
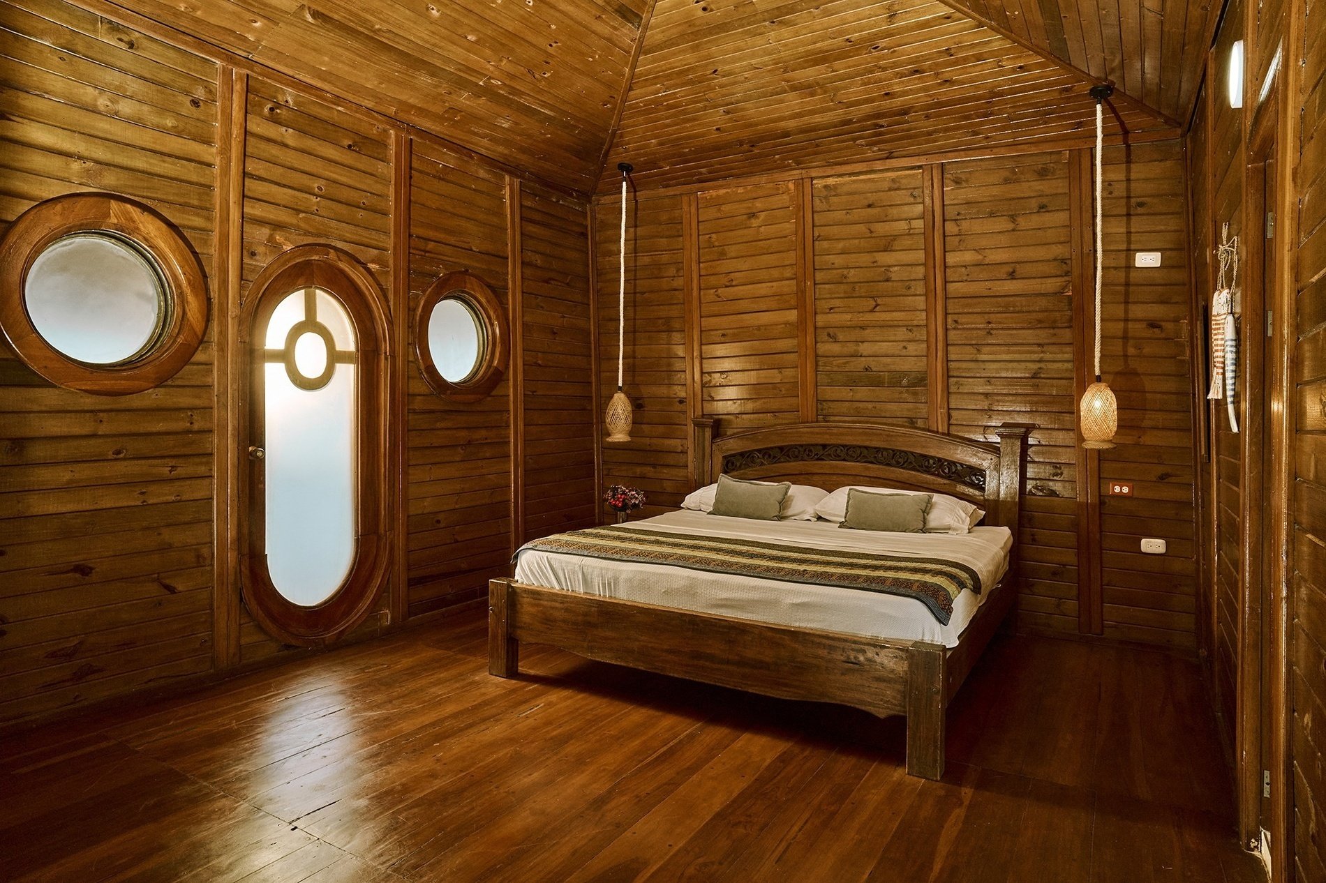
[[[1219,0],[945,0],[1172,121],[1187,123]]]

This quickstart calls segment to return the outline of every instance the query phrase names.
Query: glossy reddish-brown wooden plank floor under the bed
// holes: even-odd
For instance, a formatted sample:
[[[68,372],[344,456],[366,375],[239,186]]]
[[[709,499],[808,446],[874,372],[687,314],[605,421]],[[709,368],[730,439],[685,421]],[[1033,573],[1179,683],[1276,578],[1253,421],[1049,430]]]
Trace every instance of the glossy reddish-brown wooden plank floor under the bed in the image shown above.
[[[465,617],[0,742],[4,880],[1260,880],[1196,667],[1001,638],[948,774],[898,721]]]

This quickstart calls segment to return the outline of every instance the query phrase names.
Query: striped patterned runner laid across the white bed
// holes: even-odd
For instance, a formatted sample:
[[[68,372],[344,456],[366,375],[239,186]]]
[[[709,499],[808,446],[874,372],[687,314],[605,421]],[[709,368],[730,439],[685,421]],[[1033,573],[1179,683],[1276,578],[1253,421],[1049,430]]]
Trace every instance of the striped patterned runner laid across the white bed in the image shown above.
[[[526,542],[516,552],[516,558],[530,550],[902,595],[926,605],[945,626],[953,614],[953,599],[963,589],[977,594],[981,590],[973,569],[943,558],[812,549],[639,528],[556,533]]]

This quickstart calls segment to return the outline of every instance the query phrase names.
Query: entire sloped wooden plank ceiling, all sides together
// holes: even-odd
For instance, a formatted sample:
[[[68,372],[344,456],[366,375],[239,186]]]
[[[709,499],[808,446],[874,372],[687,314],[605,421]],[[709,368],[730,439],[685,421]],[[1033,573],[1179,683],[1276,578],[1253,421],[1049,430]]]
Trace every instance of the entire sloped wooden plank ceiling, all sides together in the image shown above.
[[[1082,137],[1098,80],[1120,89],[1111,127],[1177,131],[1219,15],[1219,0],[111,1],[582,192],[615,184],[623,159],[638,186],[667,186]]]

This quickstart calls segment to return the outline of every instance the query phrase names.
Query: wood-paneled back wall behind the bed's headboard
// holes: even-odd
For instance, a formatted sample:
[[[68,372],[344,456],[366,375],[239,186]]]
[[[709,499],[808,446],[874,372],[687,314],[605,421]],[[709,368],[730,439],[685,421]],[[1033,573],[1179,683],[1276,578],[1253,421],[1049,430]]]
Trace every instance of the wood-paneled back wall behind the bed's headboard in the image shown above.
[[[1090,469],[1074,428],[1091,358],[1090,298],[1074,296],[1090,290],[1089,158],[636,194],[626,334],[636,428],[631,443],[603,444],[605,481],[675,505],[691,489],[684,418],[695,414],[717,416],[721,432],[818,415],[975,438],[1028,420],[1024,626],[1195,647],[1183,148],[1106,150],[1103,370],[1122,414],[1119,445]],[[595,208],[607,292],[618,198]],[[1132,269],[1134,251],[1160,251],[1164,266]],[[615,308],[605,298],[599,310],[601,407],[615,383]],[[1136,496],[1103,499],[1105,481],[1124,477]],[[1166,538],[1170,553],[1140,554],[1143,537]]]

